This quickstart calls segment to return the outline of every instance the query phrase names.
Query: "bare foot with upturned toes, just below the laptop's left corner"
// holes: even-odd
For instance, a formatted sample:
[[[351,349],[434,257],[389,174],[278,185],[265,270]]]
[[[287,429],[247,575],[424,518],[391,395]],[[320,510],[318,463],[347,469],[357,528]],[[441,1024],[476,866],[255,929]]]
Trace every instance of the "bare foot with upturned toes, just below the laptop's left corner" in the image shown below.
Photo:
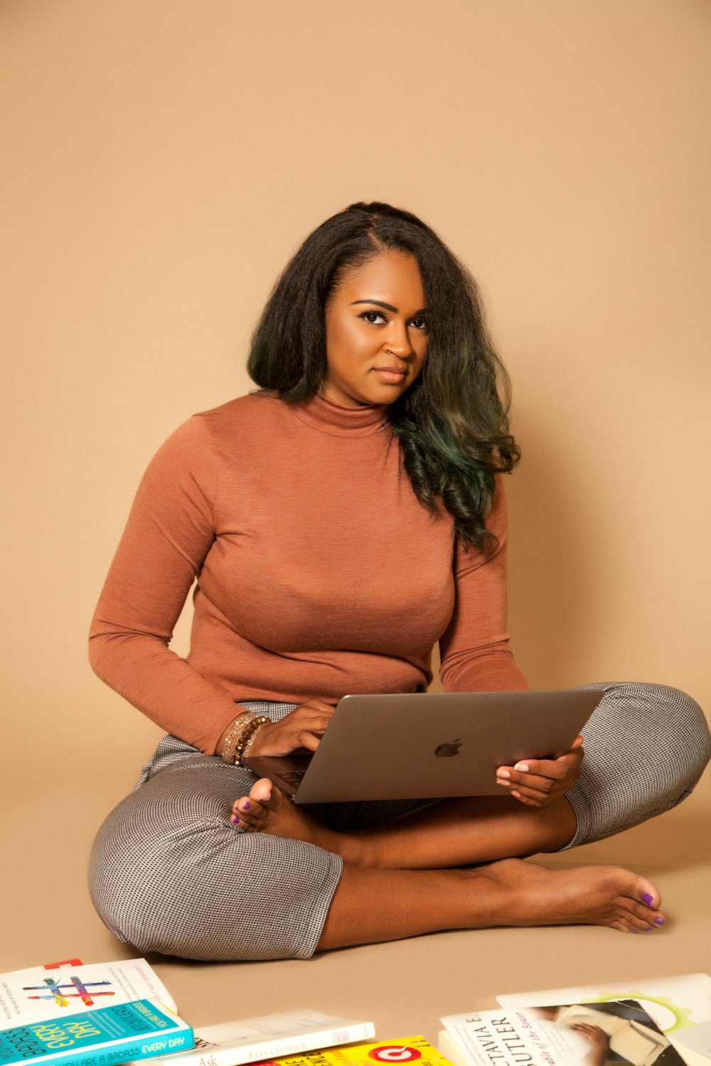
[[[317,844],[328,852],[336,852],[346,862],[355,866],[375,865],[369,860],[367,841],[346,833],[335,833],[317,822],[291,800],[287,800],[268,777],[260,777],[249,789],[248,796],[241,796],[232,805],[232,824],[244,833],[269,833],[275,837],[289,837]]]

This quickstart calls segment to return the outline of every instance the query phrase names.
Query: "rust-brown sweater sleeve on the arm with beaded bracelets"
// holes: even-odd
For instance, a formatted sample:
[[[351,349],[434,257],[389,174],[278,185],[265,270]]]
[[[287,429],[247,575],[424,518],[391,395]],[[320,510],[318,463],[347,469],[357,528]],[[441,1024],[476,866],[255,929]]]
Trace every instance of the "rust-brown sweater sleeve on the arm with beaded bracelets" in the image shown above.
[[[95,673],[163,729],[210,755],[236,706],[168,644],[214,539],[216,484],[209,431],[194,417],[143,477],[90,632]]]

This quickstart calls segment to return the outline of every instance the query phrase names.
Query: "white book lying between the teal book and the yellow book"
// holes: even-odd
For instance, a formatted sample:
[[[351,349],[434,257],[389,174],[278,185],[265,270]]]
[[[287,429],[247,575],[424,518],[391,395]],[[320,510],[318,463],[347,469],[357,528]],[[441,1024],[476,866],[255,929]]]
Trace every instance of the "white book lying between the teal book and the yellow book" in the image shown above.
[[[156,1066],[241,1066],[280,1055],[301,1054],[317,1048],[367,1040],[375,1035],[372,1021],[334,1018],[302,1007],[259,1018],[228,1021],[195,1030],[192,1051],[179,1051]]]

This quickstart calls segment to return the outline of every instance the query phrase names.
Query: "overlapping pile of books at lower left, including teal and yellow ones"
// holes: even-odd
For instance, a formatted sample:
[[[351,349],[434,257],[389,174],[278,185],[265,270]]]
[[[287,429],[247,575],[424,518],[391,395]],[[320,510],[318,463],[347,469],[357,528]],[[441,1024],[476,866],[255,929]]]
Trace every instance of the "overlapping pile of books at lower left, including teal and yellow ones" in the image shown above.
[[[304,1007],[193,1030],[145,958],[69,959],[0,975],[0,1066],[448,1066],[424,1037],[387,1043],[370,1021]]]

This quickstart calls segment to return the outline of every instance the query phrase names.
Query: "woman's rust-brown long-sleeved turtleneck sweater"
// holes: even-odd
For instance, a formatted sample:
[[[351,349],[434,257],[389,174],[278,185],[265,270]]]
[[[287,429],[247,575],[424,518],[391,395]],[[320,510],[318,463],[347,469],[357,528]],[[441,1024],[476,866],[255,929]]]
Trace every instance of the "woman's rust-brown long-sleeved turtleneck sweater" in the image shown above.
[[[240,699],[336,704],[527,688],[506,633],[501,479],[484,559],[454,547],[402,467],[387,407],[241,397],[195,415],[150,463],[96,609],[91,662],[208,754]],[[168,648],[193,581],[188,659]]]

